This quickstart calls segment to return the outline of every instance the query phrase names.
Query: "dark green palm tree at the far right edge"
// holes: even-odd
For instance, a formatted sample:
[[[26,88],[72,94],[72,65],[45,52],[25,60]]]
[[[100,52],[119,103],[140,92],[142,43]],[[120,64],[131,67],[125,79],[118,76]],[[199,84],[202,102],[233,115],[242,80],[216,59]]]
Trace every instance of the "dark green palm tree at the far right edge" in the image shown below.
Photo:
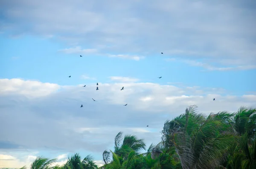
[[[230,149],[228,169],[256,168],[256,109],[240,107],[233,118],[233,129],[239,136]]]

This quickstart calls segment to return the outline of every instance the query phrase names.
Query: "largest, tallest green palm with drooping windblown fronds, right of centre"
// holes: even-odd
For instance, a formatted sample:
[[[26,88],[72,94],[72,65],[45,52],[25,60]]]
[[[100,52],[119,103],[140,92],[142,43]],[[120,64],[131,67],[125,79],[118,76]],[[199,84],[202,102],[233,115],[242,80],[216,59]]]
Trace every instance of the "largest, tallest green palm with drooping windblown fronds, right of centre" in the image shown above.
[[[196,108],[189,106],[183,115],[165,123],[164,129],[169,131],[163,131],[163,141],[175,146],[183,169],[214,169],[234,141],[232,135],[224,133],[230,130],[226,124],[232,114],[219,112],[206,117]]]

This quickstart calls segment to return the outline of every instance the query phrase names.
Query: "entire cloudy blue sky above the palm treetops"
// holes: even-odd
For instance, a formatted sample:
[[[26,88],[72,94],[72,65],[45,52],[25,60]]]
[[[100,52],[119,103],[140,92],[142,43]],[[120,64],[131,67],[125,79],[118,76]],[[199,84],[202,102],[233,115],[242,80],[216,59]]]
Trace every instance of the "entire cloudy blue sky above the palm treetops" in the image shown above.
[[[187,106],[256,107],[255,16],[255,0],[0,0],[0,168],[102,164],[118,132],[157,144]]]

